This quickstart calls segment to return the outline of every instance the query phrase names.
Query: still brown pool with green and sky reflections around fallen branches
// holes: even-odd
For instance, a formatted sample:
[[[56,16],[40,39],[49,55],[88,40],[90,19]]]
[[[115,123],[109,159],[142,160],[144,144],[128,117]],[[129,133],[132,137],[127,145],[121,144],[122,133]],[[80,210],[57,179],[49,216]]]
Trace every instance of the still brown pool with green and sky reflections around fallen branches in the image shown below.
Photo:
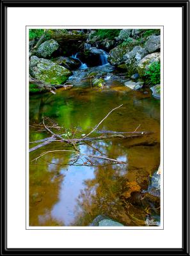
[[[105,156],[126,164],[95,158],[89,162],[84,156],[72,165],[75,154],[60,151],[31,162],[49,150],[74,150],[62,142],[52,142],[31,152],[29,225],[88,226],[95,217],[104,214],[125,226],[144,226],[146,214],[159,218],[159,211],[151,210],[155,207],[151,200],[149,205],[138,204],[131,193],[141,196],[146,191],[150,175],[160,163],[160,102],[150,92],[134,92],[116,82],[107,85],[103,90],[83,86],[61,88],[56,95],[31,95],[29,141],[51,136],[38,125],[46,117],[47,125],[53,125],[53,121],[63,127],[52,131],[65,134],[67,128],[72,134],[70,138],[81,138],[121,104],[91,136],[100,136],[102,132],[106,135],[107,131],[134,131],[139,124],[138,131],[154,133],[140,138],[88,141],[77,146],[83,154]],[[30,147],[35,145],[30,143]]]

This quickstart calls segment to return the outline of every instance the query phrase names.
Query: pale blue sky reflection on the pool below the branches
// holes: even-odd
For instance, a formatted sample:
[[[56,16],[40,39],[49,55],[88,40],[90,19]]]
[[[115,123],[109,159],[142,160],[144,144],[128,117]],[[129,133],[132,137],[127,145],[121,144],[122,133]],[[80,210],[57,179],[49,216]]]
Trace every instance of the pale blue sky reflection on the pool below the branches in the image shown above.
[[[94,145],[97,147],[97,145]],[[103,154],[106,153],[106,143],[99,141],[99,148]],[[96,156],[102,156],[99,152],[93,152],[93,148],[88,147],[87,145],[81,145],[80,151],[82,154],[95,154]],[[127,155],[118,156],[116,158],[118,161],[127,162]],[[86,161],[85,157],[83,158]],[[95,159],[93,159],[95,162]],[[99,161],[99,160],[98,160]],[[56,159],[54,159],[56,163]],[[99,164],[103,163],[102,160],[99,161]],[[104,163],[106,163],[104,161]],[[49,170],[54,169],[54,164],[49,164]],[[113,169],[118,175],[125,175],[126,165],[116,164],[113,166]],[[68,166],[67,170],[64,168],[61,170],[61,174],[64,175],[63,182],[61,183],[61,188],[59,191],[59,202],[54,205],[52,208],[51,214],[52,218],[56,220],[63,221],[64,225],[70,225],[75,216],[79,213],[80,209],[77,205],[77,199],[81,191],[84,191],[85,184],[84,181],[88,179],[95,179],[94,167],[90,166]],[[90,194],[95,195],[95,188],[91,190]]]

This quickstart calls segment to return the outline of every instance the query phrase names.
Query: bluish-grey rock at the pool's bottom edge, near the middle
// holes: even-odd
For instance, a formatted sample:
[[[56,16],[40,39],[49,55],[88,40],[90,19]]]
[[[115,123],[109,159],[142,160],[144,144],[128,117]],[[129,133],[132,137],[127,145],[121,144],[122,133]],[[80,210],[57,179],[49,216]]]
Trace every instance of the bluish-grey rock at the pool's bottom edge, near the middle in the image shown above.
[[[123,224],[118,221],[111,220],[107,216],[99,215],[97,216],[89,226],[92,227],[122,227]]]

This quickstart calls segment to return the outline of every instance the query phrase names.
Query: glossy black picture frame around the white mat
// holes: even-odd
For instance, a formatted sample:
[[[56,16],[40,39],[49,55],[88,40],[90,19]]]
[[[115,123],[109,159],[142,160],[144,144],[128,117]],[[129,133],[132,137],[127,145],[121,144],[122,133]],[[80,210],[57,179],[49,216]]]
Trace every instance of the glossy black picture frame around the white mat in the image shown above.
[[[34,249],[7,248],[6,241],[6,11],[11,7],[181,7],[182,8],[182,248]],[[1,1],[1,255],[190,255],[189,254],[189,1]]]

